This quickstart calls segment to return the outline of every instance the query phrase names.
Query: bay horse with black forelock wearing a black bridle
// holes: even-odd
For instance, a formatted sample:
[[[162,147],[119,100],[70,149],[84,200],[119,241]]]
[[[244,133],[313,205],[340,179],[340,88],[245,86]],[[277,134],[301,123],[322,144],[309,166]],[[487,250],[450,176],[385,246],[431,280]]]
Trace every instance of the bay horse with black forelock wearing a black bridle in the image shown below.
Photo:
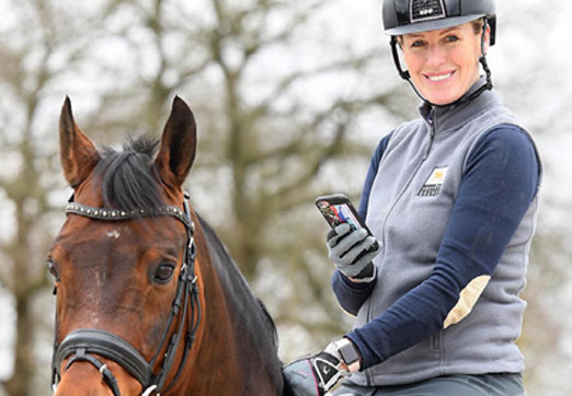
[[[287,394],[276,328],[182,185],[196,124],[176,96],[160,139],[99,151],[69,97],[66,220],[47,255],[57,396]]]

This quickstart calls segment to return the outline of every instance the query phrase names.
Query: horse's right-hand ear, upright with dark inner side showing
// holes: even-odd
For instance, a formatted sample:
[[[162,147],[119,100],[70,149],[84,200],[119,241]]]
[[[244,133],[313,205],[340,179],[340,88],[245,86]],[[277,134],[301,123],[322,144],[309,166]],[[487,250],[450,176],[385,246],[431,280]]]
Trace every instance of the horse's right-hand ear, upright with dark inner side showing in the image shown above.
[[[195,152],[195,117],[186,103],[175,96],[171,115],[163,129],[159,154],[155,161],[163,183],[180,188],[191,171]]]

